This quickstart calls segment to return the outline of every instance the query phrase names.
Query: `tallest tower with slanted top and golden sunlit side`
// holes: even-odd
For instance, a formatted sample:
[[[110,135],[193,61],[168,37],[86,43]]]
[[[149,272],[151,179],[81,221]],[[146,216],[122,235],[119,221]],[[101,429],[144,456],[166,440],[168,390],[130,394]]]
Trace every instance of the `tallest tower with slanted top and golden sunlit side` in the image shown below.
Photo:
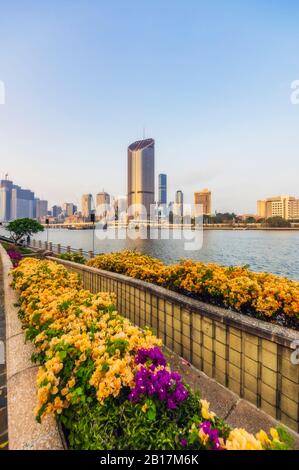
[[[139,140],[128,148],[128,213],[130,218],[150,217],[155,202],[155,141]]]

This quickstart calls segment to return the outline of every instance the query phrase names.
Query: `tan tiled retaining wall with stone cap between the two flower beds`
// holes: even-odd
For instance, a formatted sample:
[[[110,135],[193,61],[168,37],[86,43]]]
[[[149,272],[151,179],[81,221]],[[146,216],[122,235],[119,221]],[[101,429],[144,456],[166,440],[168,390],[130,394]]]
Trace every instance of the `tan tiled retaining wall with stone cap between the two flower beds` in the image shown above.
[[[153,284],[57,260],[92,292],[117,295],[118,311],[150,326],[164,344],[218,383],[298,432],[297,331],[176,294]]]

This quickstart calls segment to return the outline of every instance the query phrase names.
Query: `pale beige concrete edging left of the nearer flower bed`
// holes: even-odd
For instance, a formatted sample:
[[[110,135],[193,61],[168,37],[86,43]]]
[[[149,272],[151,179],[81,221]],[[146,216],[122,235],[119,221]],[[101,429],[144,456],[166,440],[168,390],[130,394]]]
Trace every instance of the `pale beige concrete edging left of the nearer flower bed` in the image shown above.
[[[6,320],[6,367],[8,439],[10,450],[63,450],[58,425],[51,416],[38,424],[34,417],[36,405],[36,372],[31,354],[33,347],[25,344],[18,319],[18,296],[11,288],[11,261],[0,245],[3,268]]]

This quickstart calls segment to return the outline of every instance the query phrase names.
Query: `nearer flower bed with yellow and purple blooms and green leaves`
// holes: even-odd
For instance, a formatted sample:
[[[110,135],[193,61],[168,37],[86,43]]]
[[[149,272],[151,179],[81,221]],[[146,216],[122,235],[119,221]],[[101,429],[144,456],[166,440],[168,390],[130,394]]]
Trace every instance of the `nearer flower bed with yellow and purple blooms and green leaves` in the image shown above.
[[[282,428],[253,436],[215,416],[170,370],[160,340],[115,311],[113,295],[91,294],[61,265],[29,258],[13,286],[40,364],[37,420],[54,414],[71,448],[289,448]]]

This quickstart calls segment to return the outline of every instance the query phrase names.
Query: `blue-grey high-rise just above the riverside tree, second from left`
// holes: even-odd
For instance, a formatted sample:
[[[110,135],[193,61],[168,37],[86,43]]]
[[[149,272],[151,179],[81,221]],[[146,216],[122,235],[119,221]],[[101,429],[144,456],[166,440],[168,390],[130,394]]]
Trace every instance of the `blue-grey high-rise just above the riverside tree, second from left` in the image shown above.
[[[11,190],[11,213],[10,218],[23,219],[34,218],[35,198],[34,193],[29,189],[22,189],[20,186],[13,186]]]

